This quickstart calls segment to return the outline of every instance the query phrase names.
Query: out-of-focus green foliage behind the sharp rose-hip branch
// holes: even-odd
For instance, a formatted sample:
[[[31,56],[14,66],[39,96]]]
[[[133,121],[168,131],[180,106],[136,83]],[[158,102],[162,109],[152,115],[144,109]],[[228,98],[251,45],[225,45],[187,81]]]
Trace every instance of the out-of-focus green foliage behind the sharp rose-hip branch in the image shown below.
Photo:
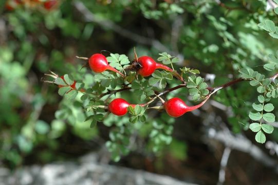
[[[74,100],[67,101],[58,95],[55,85],[40,80],[48,70],[61,76],[69,73],[73,79],[83,82],[84,88],[101,91],[95,74],[84,68],[80,70],[82,63],[76,55],[89,57],[105,49],[128,54],[131,59],[134,46],[138,55],[158,58],[161,57],[158,53],[164,52],[152,42],[144,45],[140,41],[134,43],[134,38],[119,37],[113,25],[155,39],[173,54],[181,54],[184,60],[174,63],[175,68],[196,68],[201,76],[215,74],[212,86],[228,82],[227,74],[237,77],[241,68],[255,68],[266,77],[274,75],[263,67],[269,61],[268,55],[275,55],[278,49],[272,38],[276,36],[277,27],[266,22],[277,22],[274,10],[266,11],[266,1],[221,2],[223,4],[213,0],[65,0],[51,11],[24,7],[8,11],[5,1],[0,1],[1,161],[14,168],[23,164],[28,156],[40,162],[59,160],[65,157],[58,151],[69,133],[83,141],[102,137],[99,127],[91,125],[92,120],[84,121],[92,115],[82,108],[89,103],[86,97],[82,99],[78,94]],[[78,3],[88,12],[80,11]],[[88,13],[102,23],[84,21],[90,16]],[[170,87],[177,85],[176,80],[167,82]],[[164,80],[161,85],[166,85]],[[248,129],[249,110],[257,98],[256,90],[246,86],[241,83],[226,88],[214,98],[232,107],[235,116],[227,120],[235,133]],[[185,93],[179,89],[167,98],[180,96],[184,99]],[[198,95],[196,99],[202,96]],[[122,93],[121,97],[133,103],[140,102],[136,95]],[[277,101],[272,103],[276,105]],[[129,150],[138,150],[139,146],[130,139],[134,133],[145,140],[145,148],[140,150],[163,155],[163,149],[169,147],[172,156],[183,160],[186,159],[186,144],[175,138],[171,143],[174,122],[175,119],[162,113],[147,119],[146,123],[130,124],[128,117],[109,115],[98,124],[109,128],[110,134],[104,139],[109,140],[106,146],[116,161]],[[278,139],[275,135],[272,137]]]

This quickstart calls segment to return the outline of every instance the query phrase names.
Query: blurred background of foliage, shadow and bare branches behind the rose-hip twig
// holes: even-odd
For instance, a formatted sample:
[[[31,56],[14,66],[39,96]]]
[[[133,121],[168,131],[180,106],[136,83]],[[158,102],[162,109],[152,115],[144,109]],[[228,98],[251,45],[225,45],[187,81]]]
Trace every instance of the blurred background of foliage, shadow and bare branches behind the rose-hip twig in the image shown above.
[[[90,84],[94,74],[81,69],[84,62],[76,55],[90,57],[107,50],[132,60],[134,47],[138,55],[154,59],[164,51],[179,57],[176,68],[199,69],[210,86],[238,77],[238,69],[246,66],[269,77],[272,74],[262,65],[278,45],[257,24],[265,18],[278,22],[274,2],[65,0],[50,9],[36,1],[9,9],[6,2],[0,1],[3,168],[14,172],[33,164],[75,161],[95,152],[97,162],[181,181],[278,183],[278,132],[275,128],[265,144],[255,142],[254,133],[248,130],[248,113],[257,93],[247,83],[221,90],[194,113],[165,119],[172,124],[165,128],[173,130],[170,136],[152,136],[162,129],[160,122],[137,127],[127,138],[132,143],[127,155],[112,152],[111,156],[106,149],[113,137],[109,133],[119,126],[111,122],[128,118],[112,117],[90,128],[79,101],[64,101],[57,86],[41,81],[44,73],[52,70]],[[122,96],[136,99],[130,94]],[[157,119],[165,117],[163,113],[150,114]]]

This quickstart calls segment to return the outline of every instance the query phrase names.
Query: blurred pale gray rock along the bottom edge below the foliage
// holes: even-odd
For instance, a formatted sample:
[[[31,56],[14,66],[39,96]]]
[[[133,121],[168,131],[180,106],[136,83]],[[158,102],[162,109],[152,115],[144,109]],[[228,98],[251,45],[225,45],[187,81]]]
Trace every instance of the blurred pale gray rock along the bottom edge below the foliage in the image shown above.
[[[188,185],[172,177],[157,175],[114,165],[97,163],[95,154],[79,162],[56,162],[43,166],[32,165],[11,173],[0,169],[0,184],[38,185]]]

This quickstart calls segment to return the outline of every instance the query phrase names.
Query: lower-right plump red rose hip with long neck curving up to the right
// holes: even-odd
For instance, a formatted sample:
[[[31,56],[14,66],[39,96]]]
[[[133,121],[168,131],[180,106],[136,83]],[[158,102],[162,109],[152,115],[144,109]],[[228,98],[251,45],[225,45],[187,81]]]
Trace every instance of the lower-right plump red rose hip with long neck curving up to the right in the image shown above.
[[[195,109],[201,107],[203,104],[206,103],[206,101],[208,99],[209,99],[209,97],[207,97],[205,100],[203,100],[198,105],[188,106],[180,98],[171,98],[170,100],[168,100],[164,103],[164,108],[169,116],[180,117],[184,113],[190,112],[192,110],[195,110]]]

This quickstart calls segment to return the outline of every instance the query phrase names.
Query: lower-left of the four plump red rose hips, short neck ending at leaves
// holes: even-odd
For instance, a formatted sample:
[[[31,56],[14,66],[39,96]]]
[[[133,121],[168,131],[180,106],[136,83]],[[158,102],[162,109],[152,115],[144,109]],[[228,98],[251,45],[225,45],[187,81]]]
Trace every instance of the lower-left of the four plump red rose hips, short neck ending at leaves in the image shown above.
[[[108,110],[117,116],[123,116],[127,113],[127,107],[129,105],[131,105],[132,107],[136,106],[135,104],[129,104],[122,98],[116,98],[109,103]]]

